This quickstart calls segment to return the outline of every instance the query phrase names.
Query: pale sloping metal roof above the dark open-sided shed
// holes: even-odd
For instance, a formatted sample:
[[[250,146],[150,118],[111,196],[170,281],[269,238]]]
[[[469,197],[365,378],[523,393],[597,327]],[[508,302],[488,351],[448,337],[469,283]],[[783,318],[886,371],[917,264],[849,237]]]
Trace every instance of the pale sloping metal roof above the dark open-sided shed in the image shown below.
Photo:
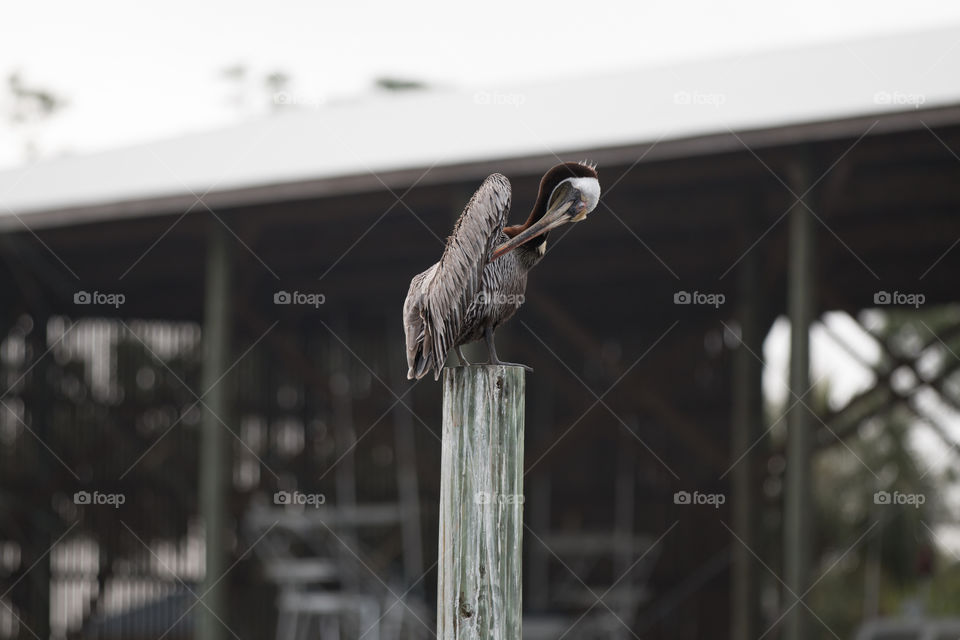
[[[927,110],[960,104],[958,79],[960,28],[950,28],[509,89],[292,105],[240,126],[0,173],[0,221]],[[102,217],[112,215],[123,214],[114,206]]]

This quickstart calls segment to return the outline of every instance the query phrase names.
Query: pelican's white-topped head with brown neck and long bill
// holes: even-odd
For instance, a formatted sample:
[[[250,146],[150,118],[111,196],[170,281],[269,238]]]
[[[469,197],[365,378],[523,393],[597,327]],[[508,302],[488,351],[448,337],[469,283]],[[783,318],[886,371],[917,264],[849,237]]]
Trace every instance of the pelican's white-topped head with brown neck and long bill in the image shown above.
[[[504,227],[509,240],[496,248],[491,260],[542,236],[538,246],[545,246],[546,234],[568,222],[580,222],[593,211],[600,200],[597,165],[589,162],[558,164],[540,179],[540,192],[530,217],[521,225]]]

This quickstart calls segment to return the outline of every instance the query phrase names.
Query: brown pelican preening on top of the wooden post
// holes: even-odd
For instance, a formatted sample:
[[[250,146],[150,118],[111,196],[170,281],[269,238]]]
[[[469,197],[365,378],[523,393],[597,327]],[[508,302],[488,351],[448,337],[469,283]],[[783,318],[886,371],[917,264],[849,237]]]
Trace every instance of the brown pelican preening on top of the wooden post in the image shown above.
[[[527,272],[543,258],[547,233],[583,220],[599,199],[596,165],[564,162],[540,180],[527,221],[504,227],[510,181],[499,173],[484,180],[447,238],[440,262],[410,281],[403,303],[407,377],[419,379],[433,369],[439,378],[451,348],[469,365],[460,348],[481,338],[489,364],[514,364],[497,357],[493,332],[523,304]]]

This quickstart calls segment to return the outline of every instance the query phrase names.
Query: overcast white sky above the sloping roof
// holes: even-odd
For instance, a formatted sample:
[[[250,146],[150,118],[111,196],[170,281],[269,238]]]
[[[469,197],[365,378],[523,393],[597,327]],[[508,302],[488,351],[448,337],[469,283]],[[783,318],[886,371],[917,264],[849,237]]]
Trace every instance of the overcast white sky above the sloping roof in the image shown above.
[[[0,74],[66,96],[41,148],[86,152],[236,121],[219,71],[237,62],[323,100],[382,75],[498,86],[947,24],[960,3],[19,2],[4,6]],[[4,123],[0,166],[21,160],[9,136]]]

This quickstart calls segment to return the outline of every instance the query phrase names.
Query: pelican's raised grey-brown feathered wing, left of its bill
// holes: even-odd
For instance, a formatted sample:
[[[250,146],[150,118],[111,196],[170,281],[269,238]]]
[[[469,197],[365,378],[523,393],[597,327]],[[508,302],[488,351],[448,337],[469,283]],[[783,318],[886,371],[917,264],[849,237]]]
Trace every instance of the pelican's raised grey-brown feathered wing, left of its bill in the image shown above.
[[[495,173],[483,181],[447,238],[443,256],[427,285],[423,305],[423,351],[432,354],[436,377],[454,346],[467,308],[480,292],[483,269],[510,212],[510,181]]]

